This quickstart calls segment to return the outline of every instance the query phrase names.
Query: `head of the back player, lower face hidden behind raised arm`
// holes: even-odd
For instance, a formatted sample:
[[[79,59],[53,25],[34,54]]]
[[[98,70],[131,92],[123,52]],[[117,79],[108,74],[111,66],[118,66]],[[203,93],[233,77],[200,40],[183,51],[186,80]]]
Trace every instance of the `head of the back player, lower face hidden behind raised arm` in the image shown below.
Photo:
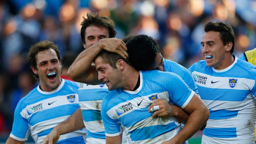
[[[81,22],[81,40],[85,48],[92,46],[102,38],[116,36],[114,22],[107,16],[98,13],[87,13]]]

